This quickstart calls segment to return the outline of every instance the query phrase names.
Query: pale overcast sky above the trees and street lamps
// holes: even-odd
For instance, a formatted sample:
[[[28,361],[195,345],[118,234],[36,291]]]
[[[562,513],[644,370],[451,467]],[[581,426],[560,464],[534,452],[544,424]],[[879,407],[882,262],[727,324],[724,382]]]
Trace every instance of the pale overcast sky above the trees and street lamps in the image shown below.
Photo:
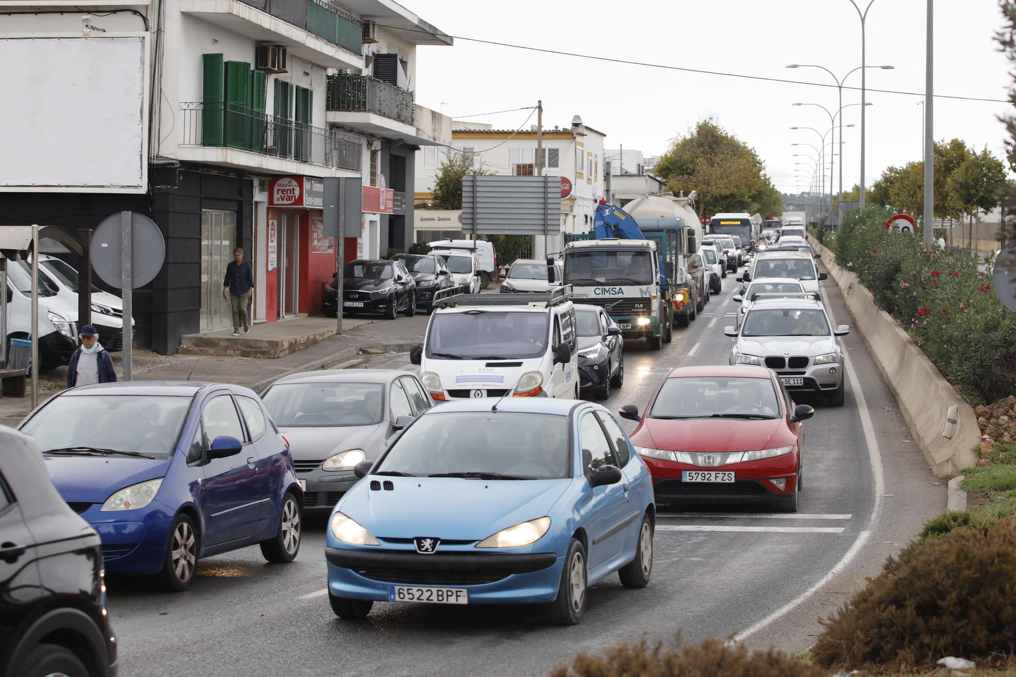
[[[867,0],[858,0],[859,4]],[[849,0],[625,0],[586,3],[518,0],[403,0],[438,28],[463,38],[576,52],[670,66],[832,83],[816,68],[786,69],[788,63],[823,65],[842,77],[861,65],[861,21]],[[925,89],[924,0],[875,0],[868,14],[867,184],[890,165],[920,160]],[[862,6],[864,8],[864,6]],[[935,91],[1006,99],[1008,63],[993,36],[1002,26],[995,0],[937,0]],[[545,127],[567,126],[572,116],[607,134],[607,146],[664,151],[671,139],[701,118],[712,116],[755,147],[776,184],[796,191],[795,152],[801,141],[818,146],[810,126],[825,132],[824,105],[836,112],[835,87],[750,80],[646,66],[611,64],[456,40],[453,47],[421,47],[417,101],[452,116],[532,106],[544,101]],[[846,80],[861,86],[861,71]],[[843,104],[861,102],[860,90],[843,89]],[[959,137],[978,149],[1003,156],[1004,127],[997,116],[1004,103],[937,98],[935,137]],[[528,111],[470,120],[516,128]],[[533,117],[530,122],[535,122]],[[843,186],[858,182],[861,107],[843,112]],[[829,142],[831,135],[826,137]],[[838,176],[838,170],[837,170]],[[838,183],[838,179],[836,181]]]

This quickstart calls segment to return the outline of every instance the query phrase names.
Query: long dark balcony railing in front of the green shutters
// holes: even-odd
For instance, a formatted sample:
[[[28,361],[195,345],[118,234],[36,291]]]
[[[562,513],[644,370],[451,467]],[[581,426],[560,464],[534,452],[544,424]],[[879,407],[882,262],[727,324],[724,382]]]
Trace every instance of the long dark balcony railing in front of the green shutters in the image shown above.
[[[361,171],[359,136],[312,127],[234,104],[180,105],[183,145],[248,150],[301,163]]]

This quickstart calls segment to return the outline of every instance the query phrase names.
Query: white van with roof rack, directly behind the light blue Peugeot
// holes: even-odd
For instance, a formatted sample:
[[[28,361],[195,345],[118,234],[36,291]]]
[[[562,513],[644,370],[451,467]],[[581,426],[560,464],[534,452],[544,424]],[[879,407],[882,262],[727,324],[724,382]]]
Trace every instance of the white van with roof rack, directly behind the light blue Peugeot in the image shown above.
[[[571,289],[454,295],[438,300],[409,361],[435,402],[466,397],[578,398]]]

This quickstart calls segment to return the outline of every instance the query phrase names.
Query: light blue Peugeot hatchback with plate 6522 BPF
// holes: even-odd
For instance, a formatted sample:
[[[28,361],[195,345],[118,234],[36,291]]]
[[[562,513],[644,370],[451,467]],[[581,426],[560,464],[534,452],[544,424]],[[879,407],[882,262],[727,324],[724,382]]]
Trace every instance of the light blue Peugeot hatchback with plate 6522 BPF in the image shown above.
[[[427,411],[335,506],[325,550],[342,618],[374,602],[546,603],[581,620],[589,586],[652,571],[652,481],[598,405],[464,399]]]

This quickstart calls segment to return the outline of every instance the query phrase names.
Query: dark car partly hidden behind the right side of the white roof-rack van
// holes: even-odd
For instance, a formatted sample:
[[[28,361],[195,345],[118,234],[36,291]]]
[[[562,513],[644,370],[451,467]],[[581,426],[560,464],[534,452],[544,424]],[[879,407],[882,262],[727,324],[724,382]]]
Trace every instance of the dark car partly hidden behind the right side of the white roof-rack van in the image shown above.
[[[611,396],[611,386],[625,380],[624,340],[621,327],[593,305],[575,304],[575,335],[578,338],[579,388],[594,390],[600,399]]]

